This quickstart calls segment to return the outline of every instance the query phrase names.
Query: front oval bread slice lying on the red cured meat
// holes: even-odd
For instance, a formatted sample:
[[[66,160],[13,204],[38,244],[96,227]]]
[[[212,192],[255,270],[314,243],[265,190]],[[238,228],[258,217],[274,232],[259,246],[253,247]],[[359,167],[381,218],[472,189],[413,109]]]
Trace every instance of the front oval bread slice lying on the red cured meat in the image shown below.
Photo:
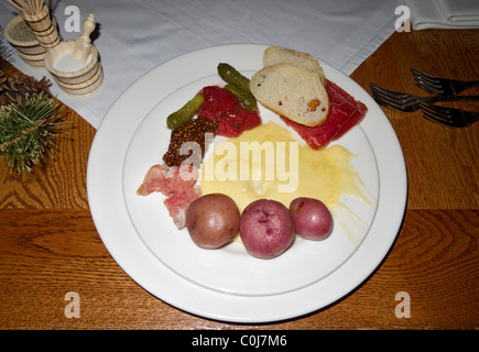
[[[319,75],[297,65],[264,67],[251,77],[250,89],[263,106],[304,125],[320,125],[329,113]]]

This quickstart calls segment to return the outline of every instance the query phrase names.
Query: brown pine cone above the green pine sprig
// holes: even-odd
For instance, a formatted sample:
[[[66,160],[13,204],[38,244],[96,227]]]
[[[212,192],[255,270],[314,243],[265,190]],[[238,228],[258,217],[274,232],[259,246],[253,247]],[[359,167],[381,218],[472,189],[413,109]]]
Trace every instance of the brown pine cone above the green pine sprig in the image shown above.
[[[51,81],[45,78],[36,80],[26,75],[13,74],[9,77],[0,70],[0,106],[18,102],[26,95],[40,94],[43,91],[45,98],[51,97],[48,87]]]

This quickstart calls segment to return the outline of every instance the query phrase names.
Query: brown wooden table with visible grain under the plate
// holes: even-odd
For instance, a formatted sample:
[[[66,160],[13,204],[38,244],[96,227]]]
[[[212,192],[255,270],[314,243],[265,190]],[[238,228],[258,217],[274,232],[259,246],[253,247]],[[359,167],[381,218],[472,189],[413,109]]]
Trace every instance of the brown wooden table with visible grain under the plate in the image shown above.
[[[410,67],[479,77],[479,31],[394,33],[351,77],[424,95]],[[472,88],[470,94],[479,94]],[[479,110],[478,103],[461,107]],[[242,326],[181,311],[150,295],[110,256],[88,209],[86,173],[96,130],[70,109],[55,160],[31,174],[0,169],[1,329],[477,329],[479,123],[449,129],[384,108],[401,142],[407,209],[380,267],[336,304],[285,322]],[[65,295],[80,298],[67,318]],[[399,318],[406,304],[411,316]],[[396,298],[399,300],[396,300]],[[403,310],[405,312],[405,310]]]

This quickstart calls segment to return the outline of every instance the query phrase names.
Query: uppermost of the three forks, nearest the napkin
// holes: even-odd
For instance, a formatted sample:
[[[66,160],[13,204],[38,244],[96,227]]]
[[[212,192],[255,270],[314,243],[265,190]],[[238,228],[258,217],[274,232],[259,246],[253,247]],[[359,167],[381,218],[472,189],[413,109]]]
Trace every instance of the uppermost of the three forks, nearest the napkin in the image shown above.
[[[411,68],[414,81],[422,89],[442,96],[457,96],[465,89],[473,86],[479,86],[479,80],[459,80],[442,78],[428,75],[418,69]]]

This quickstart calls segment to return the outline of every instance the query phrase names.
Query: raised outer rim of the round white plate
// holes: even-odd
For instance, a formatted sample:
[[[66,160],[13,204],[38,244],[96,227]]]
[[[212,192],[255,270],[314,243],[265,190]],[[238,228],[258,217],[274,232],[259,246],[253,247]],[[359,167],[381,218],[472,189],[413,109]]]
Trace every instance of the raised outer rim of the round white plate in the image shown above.
[[[197,51],[188,52],[186,54],[176,56],[146,73],[142,77],[140,77],[135,82],[133,82],[129,88],[127,88],[123,94],[116,100],[116,102],[112,105],[112,107],[107,112],[106,117],[101,121],[97,134],[95,135],[94,142],[91,144],[90,154],[88,157],[88,165],[87,165],[87,194],[88,194],[88,201],[90,207],[91,217],[94,219],[94,223],[97,228],[97,231],[106,245],[107,250],[109,251],[110,255],[113,257],[113,260],[120,265],[120,267],[134,280],[137,282],[141,287],[143,287],[145,290],[150,292],[153,296],[156,298],[167,302],[171,306],[174,306],[181,310],[187,311],[193,315],[197,315],[204,318],[209,319],[216,319],[216,320],[224,320],[224,321],[230,321],[230,322],[242,322],[242,323],[254,323],[254,322],[269,322],[269,321],[279,321],[284,319],[291,319],[296,318],[300,316],[303,316],[305,314],[315,311],[317,309],[324,308],[334,301],[342,298],[347,294],[349,294],[351,290],[357,288],[363,280],[366,280],[382,263],[382,261],[387,257],[392,244],[394,243],[396,235],[399,233],[399,229],[401,227],[403,216],[405,212],[405,202],[407,198],[407,178],[406,178],[406,168],[404,163],[404,156],[401,150],[401,145],[398,141],[398,136],[392,129],[391,123],[389,122],[388,118],[383,113],[383,111],[379,108],[379,106],[372,100],[372,98],[366,92],[366,90],[362,89],[356,81],[353,81],[351,78],[346,76],[345,74],[340,73],[333,66],[320,62],[322,65],[328,66],[328,69],[333,69],[336,72],[336,74],[341,75],[342,78],[346,80],[347,86],[355,87],[355,90],[358,90],[361,92],[361,95],[367,95],[368,99],[368,108],[373,107],[373,111],[378,112],[382,119],[382,123],[380,128],[385,129],[382,132],[382,139],[384,139],[384,135],[387,135],[385,142],[388,143],[388,151],[379,151],[380,153],[392,153],[393,156],[396,157],[395,160],[395,177],[396,185],[395,185],[395,191],[393,191],[394,200],[395,200],[395,209],[399,210],[399,212],[395,215],[394,219],[389,220],[391,230],[393,234],[390,234],[389,237],[384,235],[382,239],[380,239],[380,249],[381,252],[377,253],[374,255],[374,261],[371,262],[371,258],[369,258],[370,263],[368,265],[368,270],[363,271],[362,275],[355,275],[355,279],[348,280],[348,283],[340,283],[337,285],[334,290],[334,293],[326,293],[323,299],[319,299],[318,301],[311,299],[311,294],[315,293],[320,286],[324,286],[328,284],[328,282],[331,278],[326,278],[325,280],[320,280],[318,284],[309,285],[308,287],[305,287],[303,289],[300,289],[298,292],[291,292],[285,294],[279,294],[274,296],[264,296],[264,297],[253,297],[255,300],[254,302],[254,314],[253,316],[249,312],[246,312],[244,310],[248,309],[241,309],[242,306],[246,305],[246,301],[248,301],[248,305],[251,304],[251,297],[242,297],[242,296],[233,296],[225,293],[218,293],[210,290],[208,288],[198,286],[194,283],[187,282],[183,277],[178,276],[177,274],[170,271],[167,267],[164,266],[162,263],[157,263],[157,258],[154,257],[154,255],[150,252],[148,248],[145,248],[145,244],[141,241],[141,239],[138,239],[138,241],[133,240],[133,237],[131,234],[123,234],[121,237],[122,242],[121,244],[118,243],[118,241],[115,241],[116,238],[116,231],[119,230],[118,224],[111,226],[107,223],[106,219],[104,219],[104,216],[108,212],[108,209],[105,209],[105,206],[115,206],[115,200],[117,197],[115,196],[113,191],[117,189],[113,185],[118,186],[118,180],[111,182],[108,185],[105,184],[105,182],[108,182],[106,179],[105,174],[100,170],[109,169],[109,167],[115,166],[113,161],[108,160],[108,153],[105,150],[105,139],[108,139],[110,134],[112,133],[110,130],[118,125],[118,121],[115,121],[117,118],[117,114],[126,113],[126,111],[121,111],[124,105],[127,102],[137,97],[139,94],[144,94],[143,87],[145,85],[149,85],[151,81],[154,80],[154,78],[162,74],[164,70],[167,70],[171,68],[171,66],[178,65],[181,62],[188,62],[188,59],[196,58],[198,56],[208,57],[211,55],[211,53],[226,53],[226,52],[251,52],[257,53],[258,55],[264,51],[265,47],[269,45],[262,45],[262,44],[225,44],[225,45],[217,45],[217,46],[209,46],[204,47]],[[217,65],[217,62],[215,62],[215,65]],[[338,84],[338,82],[337,82]],[[341,84],[338,84],[341,86]],[[344,85],[342,85],[344,86]],[[341,86],[341,87],[342,87]],[[151,89],[152,90],[152,89]],[[345,89],[348,91],[348,89]],[[159,103],[159,97],[153,95],[152,91],[146,94],[146,97],[143,97],[141,100],[149,101],[148,99],[155,100],[154,103],[150,102],[142,109],[142,112],[148,109],[148,107],[151,106],[148,111],[145,111],[145,114],[142,114],[140,118],[137,118],[138,124],[141,123],[144,119],[144,117],[150,113],[152,109],[155,108],[155,106]],[[363,101],[364,102],[364,101]],[[366,102],[364,102],[366,103]],[[124,119],[124,117],[123,117]],[[371,120],[371,119],[369,119]],[[375,131],[378,129],[378,125],[372,125],[369,123],[368,119],[364,119],[363,122],[361,122],[361,125],[367,125],[368,129],[372,129],[372,131]],[[138,127],[138,124],[135,127]],[[135,129],[134,129],[135,130]],[[134,131],[133,131],[134,132]],[[368,133],[363,131],[363,133],[369,139]],[[370,142],[371,143],[371,142]],[[128,143],[129,144],[129,141]],[[377,151],[372,146],[374,157],[377,157]],[[107,157],[106,157],[107,156]],[[118,158],[118,156],[117,156]],[[124,160],[121,162],[123,164]],[[381,167],[378,163],[378,173],[379,168]],[[118,166],[118,161],[116,163]],[[101,178],[101,176],[104,176]],[[122,189],[122,170],[119,173],[121,178],[120,183],[120,193],[121,198],[123,198],[123,189]],[[99,177],[99,178],[98,178]],[[379,199],[377,205],[377,213],[374,216],[374,220],[372,221],[372,226],[374,226],[377,218],[378,218],[378,211],[380,210],[381,205],[381,193],[382,193],[382,183],[381,183],[381,174],[379,175]],[[100,196],[101,195],[101,196]],[[110,197],[102,197],[102,196],[110,196]],[[108,208],[108,207],[107,207]],[[123,210],[127,209],[120,209],[126,208],[124,205],[117,205],[116,210]],[[382,210],[382,208],[381,208]],[[129,217],[128,217],[129,219]],[[393,224],[391,226],[391,221]],[[121,229],[120,229],[121,231]],[[371,229],[370,229],[371,231]],[[135,233],[134,237],[138,237]],[[364,240],[361,242],[360,246],[356,250],[356,252],[351,255],[351,257],[342,265],[341,271],[346,270],[346,274],[352,272],[356,272],[355,265],[351,264],[351,261],[355,260],[356,262],[358,257],[361,257],[362,252],[364,251],[366,243],[369,243],[366,241],[368,239],[368,235],[366,235]],[[137,243],[135,243],[137,242]],[[126,248],[134,249],[134,254],[130,251],[126,251]],[[138,265],[138,263],[133,263],[138,261],[138,257],[132,257],[132,255],[141,255],[141,262],[143,264],[148,264],[151,266],[142,267],[142,265]],[[156,263],[153,263],[156,262]],[[349,263],[349,264],[348,264]],[[154,265],[155,264],[155,265]],[[348,265],[346,265],[348,264]],[[352,267],[351,267],[352,266]],[[193,299],[193,297],[185,297],[188,295],[184,295],[183,297],[177,297],[177,292],[175,289],[168,288],[166,286],[157,285],[157,282],[155,282],[155,278],[157,276],[162,276],[166,280],[173,280],[175,282],[175,285],[171,286],[182,286],[183,289],[187,289],[193,295],[199,295],[202,298],[204,298],[204,301],[198,304],[198,299]],[[334,276],[334,275],[330,275]],[[153,279],[153,282],[152,282]],[[337,292],[340,292],[338,295]],[[172,297],[173,296],[173,297]],[[176,296],[176,297],[175,297]],[[207,297],[210,296],[210,297]],[[294,296],[294,297],[292,297]],[[309,296],[309,297],[308,297]],[[268,298],[268,299],[265,299]],[[273,309],[273,307],[276,307],[277,305],[284,305],[284,302],[289,300],[295,300],[297,302],[301,302],[301,307],[296,307],[294,309],[285,309],[282,311],[277,311],[277,309]],[[213,304],[215,307],[213,307]],[[206,308],[205,308],[206,307]],[[261,311],[258,311],[258,307],[263,307],[260,309]]]

